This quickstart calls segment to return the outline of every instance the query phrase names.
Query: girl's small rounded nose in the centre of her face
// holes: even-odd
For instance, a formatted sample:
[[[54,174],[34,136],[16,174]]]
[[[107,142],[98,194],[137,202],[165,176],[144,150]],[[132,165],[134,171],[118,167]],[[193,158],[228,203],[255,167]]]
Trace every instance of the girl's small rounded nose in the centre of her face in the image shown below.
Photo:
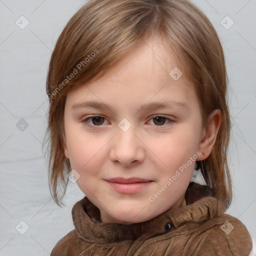
[[[117,126],[116,133],[111,140],[109,155],[111,161],[119,162],[124,166],[141,163],[145,158],[144,144],[133,125],[126,131]]]

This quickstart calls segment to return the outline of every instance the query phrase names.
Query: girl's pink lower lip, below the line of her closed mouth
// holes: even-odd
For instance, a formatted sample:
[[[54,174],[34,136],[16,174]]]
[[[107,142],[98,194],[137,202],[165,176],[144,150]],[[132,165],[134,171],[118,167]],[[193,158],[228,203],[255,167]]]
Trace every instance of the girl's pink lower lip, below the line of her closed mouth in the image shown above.
[[[136,183],[117,183],[107,181],[107,183],[117,192],[120,193],[136,193],[147,187],[152,183],[152,181],[148,182],[136,182]]]

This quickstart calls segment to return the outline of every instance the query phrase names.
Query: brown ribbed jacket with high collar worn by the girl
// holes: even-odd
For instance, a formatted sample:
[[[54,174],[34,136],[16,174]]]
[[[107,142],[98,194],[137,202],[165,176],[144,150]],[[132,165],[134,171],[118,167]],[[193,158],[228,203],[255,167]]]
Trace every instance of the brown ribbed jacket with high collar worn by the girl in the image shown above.
[[[72,208],[75,229],[50,256],[247,256],[252,241],[246,227],[224,213],[211,189],[190,182],[187,205],[129,225],[103,223],[85,196]]]

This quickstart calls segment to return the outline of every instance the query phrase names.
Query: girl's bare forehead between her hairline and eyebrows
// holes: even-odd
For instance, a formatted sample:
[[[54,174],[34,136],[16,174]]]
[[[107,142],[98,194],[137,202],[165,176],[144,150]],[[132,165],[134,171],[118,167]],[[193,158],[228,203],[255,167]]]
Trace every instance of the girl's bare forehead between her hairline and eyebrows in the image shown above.
[[[180,60],[162,40],[150,37],[124,54],[104,75],[96,76],[68,92],[67,100],[84,99],[115,102],[147,102],[169,98],[192,99],[194,88],[182,72]]]

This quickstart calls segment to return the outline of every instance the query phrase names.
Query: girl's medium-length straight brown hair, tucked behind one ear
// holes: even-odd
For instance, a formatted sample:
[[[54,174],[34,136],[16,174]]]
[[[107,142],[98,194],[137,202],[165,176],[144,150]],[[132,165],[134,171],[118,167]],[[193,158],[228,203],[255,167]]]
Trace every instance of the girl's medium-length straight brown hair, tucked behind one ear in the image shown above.
[[[71,170],[63,149],[67,92],[103,75],[124,53],[156,34],[166,43],[166,49],[174,49],[175,56],[181,60],[179,69],[193,82],[203,125],[214,109],[222,112],[212,151],[199,163],[214,196],[226,209],[229,206],[232,198],[227,165],[230,121],[224,55],[214,27],[188,0],[90,0],[64,27],[52,52],[46,81],[49,109],[47,139],[44,139],[50,147],[49,187],[57,205],[60,206],[68,182],[66,175]],[[59,196],[60,184],[64,191]]]

